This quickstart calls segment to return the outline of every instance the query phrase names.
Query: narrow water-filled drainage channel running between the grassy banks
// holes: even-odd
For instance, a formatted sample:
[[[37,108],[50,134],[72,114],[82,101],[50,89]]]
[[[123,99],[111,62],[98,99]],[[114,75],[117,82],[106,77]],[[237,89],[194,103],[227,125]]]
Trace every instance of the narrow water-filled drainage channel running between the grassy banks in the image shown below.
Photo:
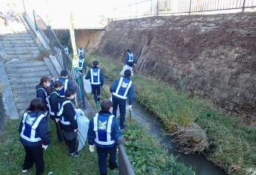
[[[111,85],[113,81],[105,77],[105,84]],[[129,107],[126,105],[126,109]],[[183,154],[180,152],[176,152],[176,143],[173,143],[173,137],[166,135],[164,131],[164,124],[158,119],[155,118],[145,106],[142,106],[138,102],[133,102],[133,111],[132,117],[142,124],[149,134],[155,135],[162,145],[166,146],[170,154],[173,154],[177,157],[177,160],[186,164],[187,167],[192,167],[192,170],[195,170],[195,174],[197,175],[224,175],[226,174],[223,170],[220,170],[220,167],[214,165],[213,162],[208,161],[204,155],[198,154]],[[127,121],[126,121],[127,122]],[[129,121],[128,121],[129,122]]]

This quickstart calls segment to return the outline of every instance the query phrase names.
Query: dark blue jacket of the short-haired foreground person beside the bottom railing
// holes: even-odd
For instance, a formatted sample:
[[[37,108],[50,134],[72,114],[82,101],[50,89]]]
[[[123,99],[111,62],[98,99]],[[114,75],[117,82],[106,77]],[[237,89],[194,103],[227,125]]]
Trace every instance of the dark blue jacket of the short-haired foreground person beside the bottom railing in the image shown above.
[[[109,116],[112,115],[111,112],[109,112],[107,110],[101,110],[100,112],[98,112],[98,114],[104,115],[106,117],[106,120],[108,120]],[[93,118],[95,118],[95,117],[93,117]],[[88,130],[88,134],[87,134],[89,145],[95,144],[95,146],[98,146],[101,148],[110,148],[113,146],[117,146],[117,139],[119,137],[122,137],[121,130],[119,127],[119,121],[117,120],[117,118],[114,117],[112,120],[112,124],[111,124],[111,134],[113,134],[112,137],[114,137],[114,144],[112,144],[112,145],[100,145],[98,143],[95,143],[95,131],[93,130],[93,128],[94,128],[93,118],[91,118],[89,121],[89,130]]]

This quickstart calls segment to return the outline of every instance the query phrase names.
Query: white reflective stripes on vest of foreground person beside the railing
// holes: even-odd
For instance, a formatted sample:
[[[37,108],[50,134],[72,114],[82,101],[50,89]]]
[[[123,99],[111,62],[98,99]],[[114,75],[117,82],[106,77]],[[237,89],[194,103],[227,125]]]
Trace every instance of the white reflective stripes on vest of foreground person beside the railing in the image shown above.
[[[113,121],[114,115],[110,115],[108,118],[108,127],[107,127],[107,142],[103,142],[98,140],[98,114],[95,115],[93,118],[94,122],[94,128],[93,130],[95,131],[95,143],[98,143],[100,145],[112,145],[114,144],[114,140],[111,140],[111,127],[112,127],[112,121]]]

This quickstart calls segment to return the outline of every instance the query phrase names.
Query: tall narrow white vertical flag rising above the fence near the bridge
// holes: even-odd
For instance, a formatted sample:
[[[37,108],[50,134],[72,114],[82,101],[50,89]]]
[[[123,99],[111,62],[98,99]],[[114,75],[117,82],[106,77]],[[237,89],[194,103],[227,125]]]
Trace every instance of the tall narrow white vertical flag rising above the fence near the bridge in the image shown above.
[[[70,38],[71,38],[71,43],[72,43],[72,48],[73,48],[73,68],[78,67],[79,60],[78,60],[78,55],[77,55],[77,49],[76,49],[76,38],[75,38],[75,29],[73,26],[73,14],[72,12],[70,13]]]

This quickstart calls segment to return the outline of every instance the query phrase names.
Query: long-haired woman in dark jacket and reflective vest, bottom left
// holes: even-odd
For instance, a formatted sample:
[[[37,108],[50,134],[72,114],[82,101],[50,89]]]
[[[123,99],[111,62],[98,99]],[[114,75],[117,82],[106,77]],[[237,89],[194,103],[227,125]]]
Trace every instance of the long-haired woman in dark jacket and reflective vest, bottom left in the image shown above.
[[[43,148],[46,149],[51,143],[48,137],[47,118],[44,115],[45,106],[42,98],[34,98],[30,107],[23,113],[23,118],[18,129],[20,142],[24,146],[26,156],[22,172],[26,173],[33,163],[36,164],[36,174],[45,170]]]

